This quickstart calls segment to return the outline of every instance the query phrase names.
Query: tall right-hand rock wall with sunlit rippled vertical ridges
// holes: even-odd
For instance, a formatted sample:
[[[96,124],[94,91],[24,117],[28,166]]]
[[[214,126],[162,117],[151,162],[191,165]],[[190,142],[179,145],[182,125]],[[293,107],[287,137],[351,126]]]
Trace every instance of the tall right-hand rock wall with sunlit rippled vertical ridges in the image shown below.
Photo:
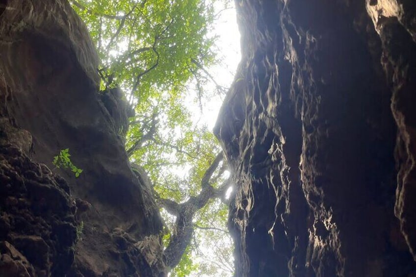
[[[415,3],[236,1],[235,276],[416,274]]]

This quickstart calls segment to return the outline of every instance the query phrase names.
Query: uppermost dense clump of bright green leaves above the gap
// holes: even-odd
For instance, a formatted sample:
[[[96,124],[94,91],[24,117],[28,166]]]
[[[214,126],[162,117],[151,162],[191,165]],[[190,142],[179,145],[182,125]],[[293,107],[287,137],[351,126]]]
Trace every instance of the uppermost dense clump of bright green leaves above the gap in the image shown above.
[[[147,104],[159,100],[160,92],[176,98],[197,70],[192,60],[203,66],[214,61],[209,1],[72,2],[96,42],[102,88],[120,86]]]

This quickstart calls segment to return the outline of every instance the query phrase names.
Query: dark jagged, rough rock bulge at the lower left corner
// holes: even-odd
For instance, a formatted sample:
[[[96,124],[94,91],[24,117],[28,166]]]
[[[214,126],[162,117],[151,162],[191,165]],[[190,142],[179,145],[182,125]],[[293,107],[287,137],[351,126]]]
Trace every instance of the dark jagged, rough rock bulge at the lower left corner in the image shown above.
[[[27,135],[0,118],[0,275],[63,276],[74,261],[76,206],[66,181],[24,153]]]

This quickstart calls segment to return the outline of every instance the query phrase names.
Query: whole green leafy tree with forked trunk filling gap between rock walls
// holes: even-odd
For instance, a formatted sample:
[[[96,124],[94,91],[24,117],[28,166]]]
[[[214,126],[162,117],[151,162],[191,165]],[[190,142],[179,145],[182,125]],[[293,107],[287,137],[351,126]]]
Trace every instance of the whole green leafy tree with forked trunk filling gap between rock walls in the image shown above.
[[[219,62],[212,24],[230,1],[70,2],[96,44],[100,90],[121,88],[135,110],[126,151],[152,180],[171,276],[231,276],[227,165],[188,108],[207,101],[208,82],[225,91],[207,69]]]

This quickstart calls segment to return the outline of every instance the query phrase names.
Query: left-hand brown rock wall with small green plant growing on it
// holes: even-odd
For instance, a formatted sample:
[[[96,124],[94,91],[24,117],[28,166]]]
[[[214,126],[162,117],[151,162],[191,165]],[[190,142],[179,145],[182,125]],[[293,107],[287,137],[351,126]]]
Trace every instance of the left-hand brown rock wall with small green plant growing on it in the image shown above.
[[[0,276],[163,276],[158,209],[124,150],[128,109],[98,92],[69,3],[1,0],[0,55]],[[66,148],[78,178],[52,165]]]

